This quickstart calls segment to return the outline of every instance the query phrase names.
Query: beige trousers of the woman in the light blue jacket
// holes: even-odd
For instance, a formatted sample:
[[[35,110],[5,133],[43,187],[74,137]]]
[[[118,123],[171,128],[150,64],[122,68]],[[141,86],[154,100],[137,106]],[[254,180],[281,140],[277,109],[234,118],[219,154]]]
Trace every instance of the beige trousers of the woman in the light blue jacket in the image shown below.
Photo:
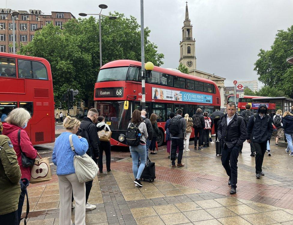
[[[86,224],[86,186],[79,183],[75,173],[59,175],[59,194],[60,194],[60,225],[72,225],[71,221],[71,195],[75,200],[75,225]]]

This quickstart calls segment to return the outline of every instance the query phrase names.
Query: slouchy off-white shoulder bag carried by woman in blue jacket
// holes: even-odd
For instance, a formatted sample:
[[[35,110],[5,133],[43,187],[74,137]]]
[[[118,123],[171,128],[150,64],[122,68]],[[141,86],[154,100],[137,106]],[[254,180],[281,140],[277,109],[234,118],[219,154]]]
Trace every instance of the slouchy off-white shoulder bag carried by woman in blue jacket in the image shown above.
[[[84,154],[83,156],[78,156],[76,154],[73,143],[72,143],[72,134],[69,135],[69,142],[70,142],[71,150],[75,154],[73,159],[73,165],[74,165],[75,174],[77,175],[78,181],[80,183],[92,181],[98,174],[97,164],[87,154]]]

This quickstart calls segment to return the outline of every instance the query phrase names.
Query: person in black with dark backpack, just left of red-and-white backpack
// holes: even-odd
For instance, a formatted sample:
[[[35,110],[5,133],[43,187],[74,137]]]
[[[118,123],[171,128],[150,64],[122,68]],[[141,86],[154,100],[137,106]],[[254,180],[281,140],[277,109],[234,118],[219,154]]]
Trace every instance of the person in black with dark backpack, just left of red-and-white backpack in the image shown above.
[[[201,147],[202,134],[204,132],[204,116],[202,115],[201,108],[196,110],[196,113],[192,116],[192,123],[194,128],[194,149],[197,149],[198,141],[198,150],[204,149]]]

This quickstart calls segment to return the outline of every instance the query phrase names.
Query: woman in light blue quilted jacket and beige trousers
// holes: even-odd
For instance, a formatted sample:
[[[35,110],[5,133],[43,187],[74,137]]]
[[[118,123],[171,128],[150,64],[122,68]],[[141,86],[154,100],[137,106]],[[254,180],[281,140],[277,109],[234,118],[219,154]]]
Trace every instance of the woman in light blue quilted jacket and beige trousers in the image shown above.
[[[89,144],[85,138],[77,136],[80,121],[76,118],[66,117],[63,132],[55,141],[52,161],[57,166],[57,175],[60,194],[60,225],[71,225],[71,193],[75,200],[75,225],[85,225],[86,222],[86,186],[79,183],[73,166],[74,152],[71,150],[69,135],[72,135],[72,142],[77,155],[86,154]]]

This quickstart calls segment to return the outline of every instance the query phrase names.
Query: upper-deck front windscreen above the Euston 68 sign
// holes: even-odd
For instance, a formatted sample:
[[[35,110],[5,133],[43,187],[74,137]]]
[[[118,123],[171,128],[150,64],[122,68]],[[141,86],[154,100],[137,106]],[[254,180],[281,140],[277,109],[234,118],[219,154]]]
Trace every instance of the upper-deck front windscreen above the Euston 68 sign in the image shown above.
[[[127,75],[128,67],[116,67],[116,68],[107,68],[101,69],[97,82],[103,81],[125,81]]]

